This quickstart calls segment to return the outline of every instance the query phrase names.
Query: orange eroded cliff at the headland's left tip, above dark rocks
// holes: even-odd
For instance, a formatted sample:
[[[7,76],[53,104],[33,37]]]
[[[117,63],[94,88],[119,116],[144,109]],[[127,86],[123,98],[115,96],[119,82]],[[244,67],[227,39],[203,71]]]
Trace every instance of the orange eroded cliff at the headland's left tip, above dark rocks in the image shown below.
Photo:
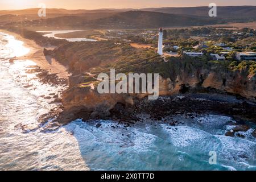
[[[115,104],[133,105],[133,97],[128,94],[100,94],[90,87],[73,87],[63,95],[64,111],[72,114],[83,113],[85,118],[108,116]]]

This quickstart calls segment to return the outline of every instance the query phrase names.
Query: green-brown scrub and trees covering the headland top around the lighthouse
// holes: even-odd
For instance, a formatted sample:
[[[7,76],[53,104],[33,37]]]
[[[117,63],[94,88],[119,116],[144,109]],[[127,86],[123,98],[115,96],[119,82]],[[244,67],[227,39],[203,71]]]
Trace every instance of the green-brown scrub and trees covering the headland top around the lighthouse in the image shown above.
[[[250,28],[243,28],[237,32],[241,34],[233,35],[233,30],[220,30],[217,28],[186,28],[179,30],[167,30],[166,43],[169,46],[179,46],[176,50],[180,53],[178,57],[166,57],[167,62],[163,61],[155,49],[152,48],[134,48],[130,46],[130,43],[120,42],[114,40],[105,40],[98,42],[68,42],[67,40],[46,38],[42,36],[42,33],[26,30],[24,28],[11,27],[8,30],[14,31],[24,38],[35,40],[40,46],[56,46],[55,49],[44,51],[45,54],[51,55],[61,64],[68,66],[69,71],[75,74],[91,72],[98,74],[100,72],[108,73],[110,68],[115,68],[118,73],[160,73],[161,76],[167,78],[172,74],[179,72],[180,68],[190,69],[220,69],[220,70],[246,70],[248,75],[255,74],[256,61],[237,61],[235,59],[236,52],[241,51],[241,43],[250,43],[250,47],[247,50],[253,50],[256,47],[256,43],[253,42],[255,36],[248,36],[247,34],[255,34],[255,31]],[[77,32],[75,32],[77,34]],[[115,34],[115,32],[106,32]],[[78,34],[83,35],[96,35],[101,34],[99,31],[86,30],[80,31]],[[137,33],[138,34],[138,33]],[[200,43],[200,39],[189,38],[185,40],[187,35],[202,36],[202,35],[214,35],[210,36],[207,41],[207,48],[193,48]],[[217,36],[219,34],[219,36]],[[222,40],[226,34],[232,34],[236,37],[237,42],[226,43],[225,47],[232,46],[236,49],[227,53],[227,59],[225,61],[212,60],[209,53],[219,53],[223,51],[223,47],[215,46],[214,43]],[[101,34],[102,35],[102,34]],[[134,36],[133,31],[128,31],[119,36],[127,35]],[[63,34],[65,37],[72,37],[72,34]],[[134,39],[134,41],[137,39]],[[213,42],[214,40],[214,42]],[[244,42],[243,42],[244,41]],[[244,44],[243,44],[244,46]],[[171,49],[174,51],[174,49]],[[167,50],[168,51],[168,50]],[[183,51],[201,51],[204,53],[203,57],[189,57],[182,54]]]

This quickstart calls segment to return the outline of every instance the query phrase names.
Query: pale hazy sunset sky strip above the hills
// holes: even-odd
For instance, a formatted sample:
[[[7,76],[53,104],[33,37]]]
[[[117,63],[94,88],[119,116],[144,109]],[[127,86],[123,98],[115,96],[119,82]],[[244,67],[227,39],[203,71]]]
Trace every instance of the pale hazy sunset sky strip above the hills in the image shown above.
[[[0,9],[27,9],[41,2],[49,8],[64,9],[208,6],[212,2],[217,6],[256,6],[256,0],[0,0]]]

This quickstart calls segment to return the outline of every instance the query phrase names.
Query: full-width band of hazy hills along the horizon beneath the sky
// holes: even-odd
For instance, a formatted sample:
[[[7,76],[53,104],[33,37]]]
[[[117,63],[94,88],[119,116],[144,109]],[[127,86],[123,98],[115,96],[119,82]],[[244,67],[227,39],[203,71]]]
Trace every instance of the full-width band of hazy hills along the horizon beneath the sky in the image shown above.
[[[22,27],[77,27],[132,29],[158,27],[204,26],[228,22],[256,20],[256,6],[220,6],[217,17],[209,17],[209,7],[162,7],[140,10],[47,9],[47,16],[38,17],[39,9],[0,11],[2,26]],[[130,10],[130,11],[127,11]],[[18,15],[18,16],[17,16]]]

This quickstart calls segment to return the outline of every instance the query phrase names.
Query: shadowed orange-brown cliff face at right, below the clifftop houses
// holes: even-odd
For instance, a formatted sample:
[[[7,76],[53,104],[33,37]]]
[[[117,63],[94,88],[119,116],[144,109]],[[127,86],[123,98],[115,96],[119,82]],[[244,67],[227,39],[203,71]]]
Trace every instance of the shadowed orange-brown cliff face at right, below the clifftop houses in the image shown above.
[[[207,69],[197,70],[191,73],[181,71],[172,78],[159,80],[159,94],[170,95],[213,88],[223,92],[240,95],[248,100],[256,98],[256,75],[248,74],[246,69],[236,71],[215,72]]]

